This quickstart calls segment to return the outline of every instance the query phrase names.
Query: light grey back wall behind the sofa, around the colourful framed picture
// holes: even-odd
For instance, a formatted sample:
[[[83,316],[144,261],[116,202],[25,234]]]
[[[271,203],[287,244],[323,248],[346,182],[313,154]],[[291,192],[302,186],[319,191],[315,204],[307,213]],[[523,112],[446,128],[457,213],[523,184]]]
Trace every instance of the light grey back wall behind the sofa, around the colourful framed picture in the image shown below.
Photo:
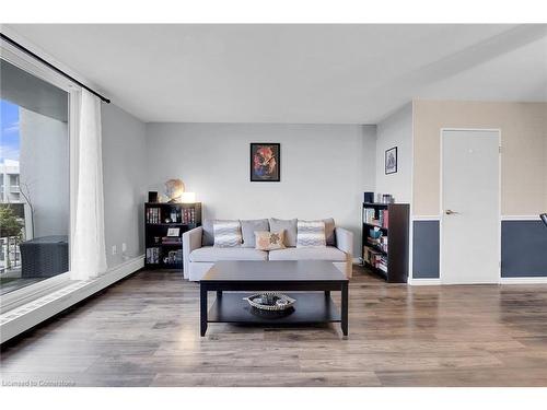
[[[249,143],[281,143],[281,181],[249,181]],[[333,216],[360,248],[362,192],[374,188],[374,126],[148,124],[148,183],[181,178],[205,218]]]

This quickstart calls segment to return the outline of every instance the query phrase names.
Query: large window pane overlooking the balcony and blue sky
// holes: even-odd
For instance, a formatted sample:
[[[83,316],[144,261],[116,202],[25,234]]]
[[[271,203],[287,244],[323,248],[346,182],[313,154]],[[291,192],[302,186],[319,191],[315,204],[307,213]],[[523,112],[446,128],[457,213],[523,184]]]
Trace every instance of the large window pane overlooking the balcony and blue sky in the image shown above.
[[[69,270],[69,94],[0,60],[0,293]]]

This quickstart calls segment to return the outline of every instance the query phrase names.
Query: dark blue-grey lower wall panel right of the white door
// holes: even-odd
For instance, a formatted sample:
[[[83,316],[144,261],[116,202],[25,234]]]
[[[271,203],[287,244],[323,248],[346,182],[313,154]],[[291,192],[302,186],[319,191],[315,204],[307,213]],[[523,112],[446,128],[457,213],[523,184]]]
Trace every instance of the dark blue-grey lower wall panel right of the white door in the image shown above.
[[[547,227],[542,221],[501,222],[501,277],[547,277]]]

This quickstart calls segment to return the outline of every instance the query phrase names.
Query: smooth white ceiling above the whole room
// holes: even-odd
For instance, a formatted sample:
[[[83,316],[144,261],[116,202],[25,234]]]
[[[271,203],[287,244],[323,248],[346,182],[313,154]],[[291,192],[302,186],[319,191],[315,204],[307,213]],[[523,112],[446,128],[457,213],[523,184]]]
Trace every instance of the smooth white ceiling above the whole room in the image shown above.
[[[28,25],[144,121],[375,124],[411,98],[547,101],[547,25]]]

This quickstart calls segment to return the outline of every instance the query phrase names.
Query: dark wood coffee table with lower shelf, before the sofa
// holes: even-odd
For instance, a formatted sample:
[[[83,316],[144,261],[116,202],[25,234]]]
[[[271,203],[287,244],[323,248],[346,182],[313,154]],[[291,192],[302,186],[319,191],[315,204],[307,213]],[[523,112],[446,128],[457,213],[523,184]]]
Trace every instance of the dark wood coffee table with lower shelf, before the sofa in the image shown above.
[[[199,286],[201,336],[210,323],[260,326],[340,323],[342,333],[348,336],[348,279],[328,261],[219,261],[205,274]],[[210,291],[217,292],[217,300],[208,312]],[[243,300],[246,294],[241,293],[261,291],[305,293],[290,294],[296,300],[293,311],[271,314],[251,307]],[[341,292],[340,312],[330,298],[330,291]]]

